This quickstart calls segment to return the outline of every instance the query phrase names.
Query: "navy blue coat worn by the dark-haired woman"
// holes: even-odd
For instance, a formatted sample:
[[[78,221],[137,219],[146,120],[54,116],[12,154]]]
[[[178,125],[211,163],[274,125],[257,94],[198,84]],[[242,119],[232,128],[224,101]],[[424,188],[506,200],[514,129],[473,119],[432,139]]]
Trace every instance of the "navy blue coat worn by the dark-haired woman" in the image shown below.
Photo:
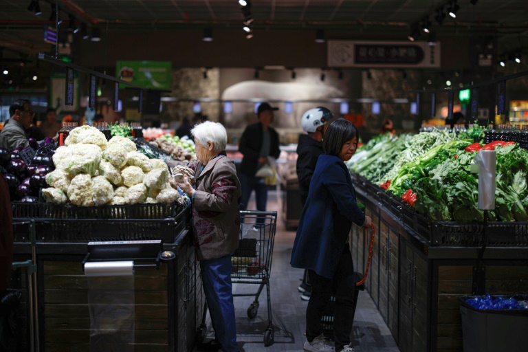
[[[308,199],[300,216],[292,267],[314,270],[332,278],[352,223],[363,225],[349,170],[336,156],[322,154],[311,178]]]

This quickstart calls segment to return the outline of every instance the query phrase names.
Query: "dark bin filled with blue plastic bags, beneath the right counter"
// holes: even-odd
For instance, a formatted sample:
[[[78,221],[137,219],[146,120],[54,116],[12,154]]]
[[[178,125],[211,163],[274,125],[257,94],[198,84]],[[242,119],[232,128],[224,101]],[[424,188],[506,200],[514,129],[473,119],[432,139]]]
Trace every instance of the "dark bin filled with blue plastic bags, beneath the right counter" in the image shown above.
[[[528,295],[507,297],[528,299]],[[527,351],[528,309],[476,309],[466,303],[468,298],[475,296],[459,298],[464,352]]]

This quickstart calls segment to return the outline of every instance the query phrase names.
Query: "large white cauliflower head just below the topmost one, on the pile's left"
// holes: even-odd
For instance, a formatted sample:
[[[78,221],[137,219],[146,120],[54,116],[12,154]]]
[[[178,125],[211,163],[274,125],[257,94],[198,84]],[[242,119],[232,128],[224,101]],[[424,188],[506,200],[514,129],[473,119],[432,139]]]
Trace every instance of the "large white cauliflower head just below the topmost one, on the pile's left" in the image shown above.
[[[99,173],[101,161],[101,148],[95,144],[73,144],[72,146],[61,146],[53,155],[56,168],[65,170],[70,175],[87,173],[95,176]]]

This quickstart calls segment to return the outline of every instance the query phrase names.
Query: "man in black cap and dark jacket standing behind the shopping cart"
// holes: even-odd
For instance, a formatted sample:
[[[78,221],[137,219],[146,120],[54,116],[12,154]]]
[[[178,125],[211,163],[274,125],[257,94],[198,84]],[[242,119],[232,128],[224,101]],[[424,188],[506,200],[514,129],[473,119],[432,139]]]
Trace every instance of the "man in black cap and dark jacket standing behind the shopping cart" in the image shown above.
[[[270,126],[273,122],[272,107],[267,102],[259,105],[256,115],[259,122],[250,124],[242,133],[239,151],[244,155],[240,166],[240,184],[242,188],[241,205],[248,209],[251,192],[255,190],[256,210],[265,211],[267,203],[267,185],[263,177],[255,177],[256,171],[268,164],[268,157],[278,158],[278,133]]]

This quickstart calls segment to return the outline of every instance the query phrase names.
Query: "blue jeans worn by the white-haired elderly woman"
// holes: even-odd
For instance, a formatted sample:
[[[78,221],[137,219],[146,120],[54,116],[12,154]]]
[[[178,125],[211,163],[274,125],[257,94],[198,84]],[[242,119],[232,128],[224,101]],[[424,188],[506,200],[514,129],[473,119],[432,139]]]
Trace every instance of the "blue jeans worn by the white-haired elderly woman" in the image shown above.
[[[214,336],[225,352],[239,351],[236,344],[232,267],[231,256],[200,261],[203,292],[206,294]]]

